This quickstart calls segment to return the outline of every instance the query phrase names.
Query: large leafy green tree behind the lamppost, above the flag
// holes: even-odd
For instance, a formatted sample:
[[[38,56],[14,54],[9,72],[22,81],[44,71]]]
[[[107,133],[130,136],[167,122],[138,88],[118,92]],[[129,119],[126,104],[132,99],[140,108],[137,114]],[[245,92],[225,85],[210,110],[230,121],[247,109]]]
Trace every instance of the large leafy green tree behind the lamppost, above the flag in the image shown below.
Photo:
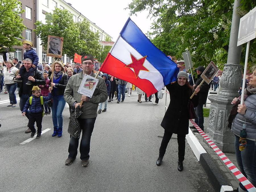
[[[234,0],[133,0],[128,8],[131,14],[148,10],[156,18],[148,34],[164,53],[182,59],[182,52],[190,50],[195,66],[213,60],[221,68],[227,61],[233,4]],[[243,16],[255,5],[256,1],[241,0],[236,13]],[[256,60],[255,50],[252,40],[249,63]],[[241,63],[244,56],[243,45]]]

